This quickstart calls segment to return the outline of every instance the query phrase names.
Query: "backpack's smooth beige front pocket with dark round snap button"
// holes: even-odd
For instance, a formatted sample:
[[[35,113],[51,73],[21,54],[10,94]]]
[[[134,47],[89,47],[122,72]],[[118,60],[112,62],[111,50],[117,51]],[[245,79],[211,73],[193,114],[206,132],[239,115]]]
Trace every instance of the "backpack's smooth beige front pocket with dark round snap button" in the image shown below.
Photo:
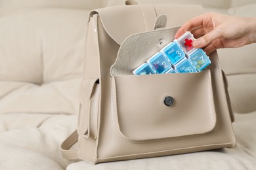
[[[173,99],[171,105],[168,99]],[[211,71],[112,76],[112,114],[117,133],[131,142],[212,131],[216,113]]]

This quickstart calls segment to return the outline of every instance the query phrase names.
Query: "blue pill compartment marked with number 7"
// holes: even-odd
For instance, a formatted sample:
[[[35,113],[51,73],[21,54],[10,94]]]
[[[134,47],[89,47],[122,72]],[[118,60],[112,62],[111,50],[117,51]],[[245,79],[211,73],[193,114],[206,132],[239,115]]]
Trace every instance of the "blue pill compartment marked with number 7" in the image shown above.
[[[205,67],[211,64],[211,60],[201,48],[196,49],[196,51],[188,55],[188,59],[198,71],[202,71]]]

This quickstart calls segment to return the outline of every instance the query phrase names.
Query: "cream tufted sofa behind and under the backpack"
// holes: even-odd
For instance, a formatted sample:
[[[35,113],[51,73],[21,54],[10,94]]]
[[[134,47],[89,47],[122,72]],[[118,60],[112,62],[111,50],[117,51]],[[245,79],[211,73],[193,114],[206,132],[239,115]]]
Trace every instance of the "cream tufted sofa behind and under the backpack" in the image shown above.
[[[0,1],[0,170],[256,169],[255,44],[219,51],[219,56],[224,56],[221,64],[228,73],[233,108],[244,113],[236,114],[233,124],[236,148],[98,165],[62,158],[60,143],[77,126],[89,10],[120,1]],[[167,0],[142,0],[147,2]],[[255,16],[256,2],[243,2],[247,5],[238,8],[242,3],[179,1]],[[243,67],[238,68],[241,63]]]

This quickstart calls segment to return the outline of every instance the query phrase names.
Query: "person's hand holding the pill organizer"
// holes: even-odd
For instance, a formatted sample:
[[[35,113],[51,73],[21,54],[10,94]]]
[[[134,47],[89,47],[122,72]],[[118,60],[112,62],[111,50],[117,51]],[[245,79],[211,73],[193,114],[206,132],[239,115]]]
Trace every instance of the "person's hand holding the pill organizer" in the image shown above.
[[[179,38],[186,31],[198,38],[195,48],[204,48],[210,54],[217,48],[236,48],[256,42],[256,18],[207,13],[188,20],[175,35]]]

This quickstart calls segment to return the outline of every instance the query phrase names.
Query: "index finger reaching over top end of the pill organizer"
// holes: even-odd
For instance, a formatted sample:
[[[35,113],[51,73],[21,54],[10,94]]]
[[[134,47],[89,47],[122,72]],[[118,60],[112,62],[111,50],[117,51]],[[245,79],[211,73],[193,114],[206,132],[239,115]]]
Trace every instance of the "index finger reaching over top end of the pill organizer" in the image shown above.
[[[203,14],[188,20],[188,22],[182,25],[179,31],[177,31],[175,39],[178,39],[179,37],[181,37],[182,34],[184,34],[186,31],[189,31],[190,29],[202,26],[205,20],[211,20],[209,14]]]

